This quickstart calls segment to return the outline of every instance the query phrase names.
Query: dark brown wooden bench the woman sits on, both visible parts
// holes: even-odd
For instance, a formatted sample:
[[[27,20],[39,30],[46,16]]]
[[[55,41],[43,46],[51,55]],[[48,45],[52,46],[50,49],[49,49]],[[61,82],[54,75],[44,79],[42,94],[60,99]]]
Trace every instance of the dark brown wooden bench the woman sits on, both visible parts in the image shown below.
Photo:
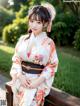
[[[13,106],[12,89],[8,84],[5,87],[7,106]],[[45,99],[44,106],[80,106],[80,98],[52,87],[50,94]]]

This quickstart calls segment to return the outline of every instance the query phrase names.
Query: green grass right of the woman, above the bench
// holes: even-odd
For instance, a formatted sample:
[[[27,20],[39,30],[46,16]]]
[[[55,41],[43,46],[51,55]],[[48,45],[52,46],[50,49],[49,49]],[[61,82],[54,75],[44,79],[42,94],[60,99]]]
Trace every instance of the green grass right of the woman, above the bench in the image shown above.
[[[72,50],[66,50],[66,48],[58,48],[57,50],[59,67],[53,85],[80,97],[80,57],[79,55],[73,55],[74,53],[69,51]],[[77,52],[77,54],[79,53]]]

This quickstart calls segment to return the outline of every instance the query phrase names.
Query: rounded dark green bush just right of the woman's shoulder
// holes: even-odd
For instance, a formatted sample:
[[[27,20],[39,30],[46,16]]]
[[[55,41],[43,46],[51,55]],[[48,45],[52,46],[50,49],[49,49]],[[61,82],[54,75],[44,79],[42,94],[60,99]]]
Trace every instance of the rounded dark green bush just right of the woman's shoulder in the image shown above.
[[[58,45],[67,44],[67,25],[64,22],[57,22],[52,26],[52,36]]]

